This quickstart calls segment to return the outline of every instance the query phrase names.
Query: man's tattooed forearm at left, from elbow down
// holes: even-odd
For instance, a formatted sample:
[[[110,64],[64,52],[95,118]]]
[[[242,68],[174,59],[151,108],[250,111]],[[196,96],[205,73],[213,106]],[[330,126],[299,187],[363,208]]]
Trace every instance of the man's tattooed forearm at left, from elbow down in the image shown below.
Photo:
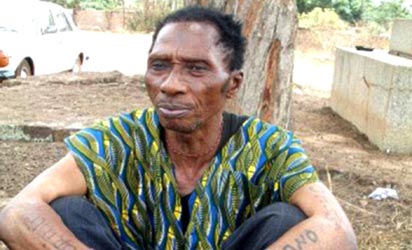
[[[41,201],[11,201],[0,213],[0,240],[10,249],[89,249]]]

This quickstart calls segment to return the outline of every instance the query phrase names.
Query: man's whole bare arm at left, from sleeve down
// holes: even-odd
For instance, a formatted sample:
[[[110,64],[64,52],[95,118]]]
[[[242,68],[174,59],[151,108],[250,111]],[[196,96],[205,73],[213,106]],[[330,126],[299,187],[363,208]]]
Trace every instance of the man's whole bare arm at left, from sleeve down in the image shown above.
[[[45,170],[0,213],[0,240],[11,249],[88,249],[49,206],[54,199],[84,195],[86,181],[71,154]]]

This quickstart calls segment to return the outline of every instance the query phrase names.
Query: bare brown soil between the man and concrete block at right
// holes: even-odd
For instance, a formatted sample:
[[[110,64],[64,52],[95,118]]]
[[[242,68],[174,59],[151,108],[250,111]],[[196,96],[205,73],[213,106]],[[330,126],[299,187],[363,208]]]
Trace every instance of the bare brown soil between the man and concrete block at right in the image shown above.
[[[412,249],[412,156],[389,155],[329,107],[329,100],[294,96],[294,131],[322,180],[347,212],[360,249]],[[400,200],[368,195],[391,187]]]

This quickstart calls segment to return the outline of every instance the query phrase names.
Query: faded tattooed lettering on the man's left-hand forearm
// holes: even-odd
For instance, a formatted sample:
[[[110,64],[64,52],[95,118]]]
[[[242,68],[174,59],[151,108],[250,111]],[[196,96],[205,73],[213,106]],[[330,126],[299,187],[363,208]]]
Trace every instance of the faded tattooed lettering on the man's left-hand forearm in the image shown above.
[[[30,232],[38,234],[41,239],[50,243],[54,249],[76,249],[76,247],[73,246],[69,240],[64,239],[64,237],[54,232],[51,226],[47,223],[46,219],[41,216],[28,216],[24,221],[24,224]]]

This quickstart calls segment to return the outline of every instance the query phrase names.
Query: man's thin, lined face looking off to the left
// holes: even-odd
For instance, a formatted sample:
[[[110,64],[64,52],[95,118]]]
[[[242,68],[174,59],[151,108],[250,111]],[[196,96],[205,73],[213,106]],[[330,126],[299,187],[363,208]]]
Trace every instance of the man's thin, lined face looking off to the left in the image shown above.
[[[217,40],[207,23],[170,23],[160,30],[145,80],[166,129],[190,133],[223,112],[233,73]]]

